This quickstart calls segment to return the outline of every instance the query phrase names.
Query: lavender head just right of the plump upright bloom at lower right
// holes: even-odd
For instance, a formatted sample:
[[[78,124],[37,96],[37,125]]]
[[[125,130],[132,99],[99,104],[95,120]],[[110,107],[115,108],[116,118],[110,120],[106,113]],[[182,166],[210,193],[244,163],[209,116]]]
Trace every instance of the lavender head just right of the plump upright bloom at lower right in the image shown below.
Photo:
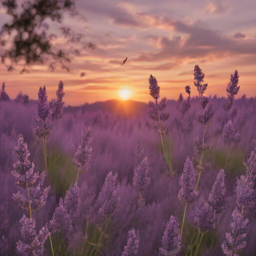
[[[225,187],[225,172],[220,169],[214,184],[211,187],[211,191],[208,198],[208,203],[212,206],[213,210],[218,210],[226,204],[226,187]]]

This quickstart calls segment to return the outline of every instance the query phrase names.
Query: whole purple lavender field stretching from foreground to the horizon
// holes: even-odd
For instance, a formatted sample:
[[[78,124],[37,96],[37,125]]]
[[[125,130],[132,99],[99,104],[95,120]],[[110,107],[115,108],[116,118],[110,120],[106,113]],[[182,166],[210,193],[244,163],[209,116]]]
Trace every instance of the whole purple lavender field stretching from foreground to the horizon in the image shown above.
[[[206,97],[195,65],[177,101],[148,74],[148,104],[94,109],[63,106],[62,81],[38,101],[3,83],[0,255],[256,255],[256,98],[238,74]]]

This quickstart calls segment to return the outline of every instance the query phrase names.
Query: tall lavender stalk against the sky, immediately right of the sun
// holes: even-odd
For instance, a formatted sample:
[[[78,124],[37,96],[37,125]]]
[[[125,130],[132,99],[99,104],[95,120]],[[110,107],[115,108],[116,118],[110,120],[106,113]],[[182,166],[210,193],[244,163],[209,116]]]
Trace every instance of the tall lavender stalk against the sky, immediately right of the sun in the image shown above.
[[[168,164],[168,167],[170,170],[170,176],[171,176],[172,175],[171,160],[170,160],[170,157],[167,158],[164,144],[163,144],[163,138],[162,138],[163,132],[164,131],[166,132],[166,127],[163,125],[162,122],[169,118],[169,114],[168,113],[165,114],[163,112],[164,108],[166,107],[167,99],[166,97],[163,97],[161,101],[158,103],[157,98],[159,98],[160,87],[158,86],[157,80],[154,76],[152,76],[152,74],[150,74],[148,81],[149,81],[149,91],[150,91],[149,94],[154,98],[154,102],[149,100],[148,102],[149,107],[147,108],[147,112],[154,121],[158,122],[158,130],[161,137],[162,149],[163,149],[163,153],[164,153],[166,162]]]

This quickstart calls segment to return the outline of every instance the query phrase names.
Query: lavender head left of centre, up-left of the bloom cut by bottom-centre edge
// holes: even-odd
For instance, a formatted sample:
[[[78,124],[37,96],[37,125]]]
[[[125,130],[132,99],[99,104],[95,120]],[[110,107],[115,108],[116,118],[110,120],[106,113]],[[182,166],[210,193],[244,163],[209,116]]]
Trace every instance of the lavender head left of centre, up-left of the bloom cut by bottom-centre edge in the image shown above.
[[[105,182],[101,187],[98,196],[100,206],[98,212],[105,218],[110,218],[117,208],[119,200],[119,182],[117,181],[118,174],[112,174],[112,171],[106,175]]]

